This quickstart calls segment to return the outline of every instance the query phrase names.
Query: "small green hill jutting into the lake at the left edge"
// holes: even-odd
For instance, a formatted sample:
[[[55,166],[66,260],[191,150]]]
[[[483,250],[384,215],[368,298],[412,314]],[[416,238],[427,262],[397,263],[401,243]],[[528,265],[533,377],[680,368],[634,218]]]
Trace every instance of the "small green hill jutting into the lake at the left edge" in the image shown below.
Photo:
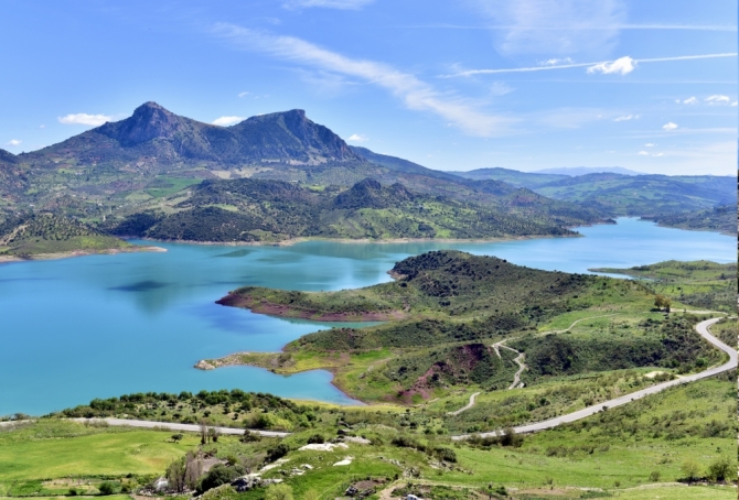
[[[77,220],[52,214],[9,217],[0,225],[0,259],[137,249],[139,247],[104,235]]]

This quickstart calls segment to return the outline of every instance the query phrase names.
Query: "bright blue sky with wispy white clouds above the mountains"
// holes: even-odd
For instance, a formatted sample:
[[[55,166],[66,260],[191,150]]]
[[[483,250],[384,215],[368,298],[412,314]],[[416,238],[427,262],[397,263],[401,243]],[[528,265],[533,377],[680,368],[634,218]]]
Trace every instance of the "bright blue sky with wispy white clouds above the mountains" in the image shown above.
[[[0,2],[0,148],[146,101],[229,126],[304,109],[469,171],[735,175],[736,0]]]

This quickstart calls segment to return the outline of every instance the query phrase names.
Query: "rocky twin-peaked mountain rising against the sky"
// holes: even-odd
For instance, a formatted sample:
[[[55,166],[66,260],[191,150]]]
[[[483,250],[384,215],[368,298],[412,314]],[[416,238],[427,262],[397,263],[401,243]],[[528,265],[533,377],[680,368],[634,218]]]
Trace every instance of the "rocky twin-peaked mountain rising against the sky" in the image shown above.
[[[125,120],[105,123],[24,156],[42,160],[49,155],[93,164],[136,161],[159,166],[360,161],[339,135],[309,120],[301,109],[219,127],[174,115],[157,102],[139,106]]]

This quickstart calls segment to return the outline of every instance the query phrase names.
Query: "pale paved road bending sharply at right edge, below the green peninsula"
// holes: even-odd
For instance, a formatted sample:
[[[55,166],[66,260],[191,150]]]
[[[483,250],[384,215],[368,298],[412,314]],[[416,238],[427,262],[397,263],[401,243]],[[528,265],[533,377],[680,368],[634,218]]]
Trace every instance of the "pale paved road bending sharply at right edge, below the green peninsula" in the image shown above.
[[[615,407],[620,406],[622,404],[630,403],[632,401],[639,400],[644,398],[645,395],[650,394],[656,394],[657,392],[662,392],[667,388],[674,387],[674,385],[679,385],[683,383],[687,382],[695,382],[696,380],[703,380],[707,379],[708,377],[713,377],[718,373],[722,373],[725,371],[729,371],[733,368],[737,368],[737,350],[735,348],[731,348],[720,341],[718,338],[714,337],[710,331],[708,330],[708,327],[710,327],[713,324],[717,323],[721,318],[713,318],[713,319],[706,319],[705,322],[700,322],[695,326],[695,329],[700,334],[703,338],[711,343],[714,346],[729,355],[729,360],[725,362],[724,365],[720,365],[718,367],[713,367],[709,368],[708,370],[701,371],[700,373],[695,373],[692,376],[686,376],[682,377],[679,379],[675,380],[670,380],[667,382],[662,382],[657,383],[656,385],[649,387],[646,389],[642,389],[641,391],[632,392],[631,394],[625,394],[620,398],[612,399],[610,401],[604,401],[602,403],[588,406],[583,410],[578,410],[577,412],[568,413],[567,415],[561,415],[557,416],[554,419],[549,419],[543,422],[536,422],[533,424],[526,424],[526,425],[520,425],[517,427],[513,427],[513,430],[516,433],[534,433],[538,431],[545,431],[547,428],[553,428],[558,425],[569,423],[569,422],[575,422],[580,419],[585,419],[587,416],[595,415],[598,412],[601,412],[606,409],[609,407]],[[496,436],[497,432],[490,432],[490,433],[481,433],[479,434],[482,437],[488,437],[488,436]],[[458,436],[451,436],[452,439],[454,441],[460,441],[460,439],[467,439],[470,437],[471,434],[461,434]]]

